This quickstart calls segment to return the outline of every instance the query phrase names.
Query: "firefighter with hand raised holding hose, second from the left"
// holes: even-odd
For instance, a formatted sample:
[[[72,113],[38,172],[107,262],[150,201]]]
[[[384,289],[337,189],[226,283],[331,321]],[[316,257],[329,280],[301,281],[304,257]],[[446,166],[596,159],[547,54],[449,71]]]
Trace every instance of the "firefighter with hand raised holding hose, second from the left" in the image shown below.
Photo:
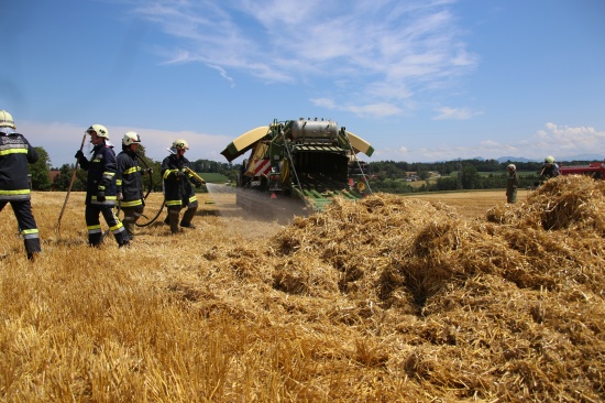
[[[109,132],[105,126],[92,124],[86,130],[90,135],[90,142],[94,148],[91,151],[91,160],[89,161],[78,150],[76,159],[82,170],[88,171],[88,181],[86,185],[86,226],[88,229],[88,243],[91,247],[99,247],[103,241],[101,231],[101,222],[99,214],[109,226],[109,229],[116,237],[116,241],[120,248],[130,244],[129,235],[113,211],[117,200],[116,186],[116,153],[111,143],[109,143]]]

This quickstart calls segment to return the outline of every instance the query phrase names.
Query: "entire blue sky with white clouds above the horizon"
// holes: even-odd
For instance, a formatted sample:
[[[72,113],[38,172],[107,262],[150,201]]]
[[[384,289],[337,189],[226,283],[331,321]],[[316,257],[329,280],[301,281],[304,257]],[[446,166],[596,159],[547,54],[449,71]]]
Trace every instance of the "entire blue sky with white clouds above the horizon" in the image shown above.
[[[94,123],[227,162],[300,117],[365,161],[605,155],[602,0],[19,0],[2,20],[0,109],[53,166]]]

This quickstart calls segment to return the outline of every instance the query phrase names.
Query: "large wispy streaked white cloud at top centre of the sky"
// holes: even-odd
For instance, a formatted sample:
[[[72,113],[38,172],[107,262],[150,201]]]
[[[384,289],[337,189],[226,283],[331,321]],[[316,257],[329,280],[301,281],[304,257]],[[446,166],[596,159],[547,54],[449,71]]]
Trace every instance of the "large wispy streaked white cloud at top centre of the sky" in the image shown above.
[[[383,117],[405,113],[416,92],[442,91],[452,77],[477,64],[455,24],[453,3],[141,0],[133,12],[177,40],[163,51],[170,63],[204,63],[230,85],[227,72],[232,69],[270,83],[345,81],[342,94],[318,87],[314,98],[333,98],[336,105],[349,102],[350,112]],[[351,99],[363,104],[351,105]],[[463,113],[442,116],[466,119]]]

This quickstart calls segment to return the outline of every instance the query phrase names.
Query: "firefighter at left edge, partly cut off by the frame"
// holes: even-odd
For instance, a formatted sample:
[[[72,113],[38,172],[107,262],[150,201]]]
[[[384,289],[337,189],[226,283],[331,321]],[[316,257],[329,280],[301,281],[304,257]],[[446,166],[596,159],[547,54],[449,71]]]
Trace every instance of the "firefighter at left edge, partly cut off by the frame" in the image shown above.
[[[12,116],[0,110],[0,211],[11,204],[28,259],[33,261],[42,248],[32,214],[28,164],[37,161],[37,152],[15,129]]]

